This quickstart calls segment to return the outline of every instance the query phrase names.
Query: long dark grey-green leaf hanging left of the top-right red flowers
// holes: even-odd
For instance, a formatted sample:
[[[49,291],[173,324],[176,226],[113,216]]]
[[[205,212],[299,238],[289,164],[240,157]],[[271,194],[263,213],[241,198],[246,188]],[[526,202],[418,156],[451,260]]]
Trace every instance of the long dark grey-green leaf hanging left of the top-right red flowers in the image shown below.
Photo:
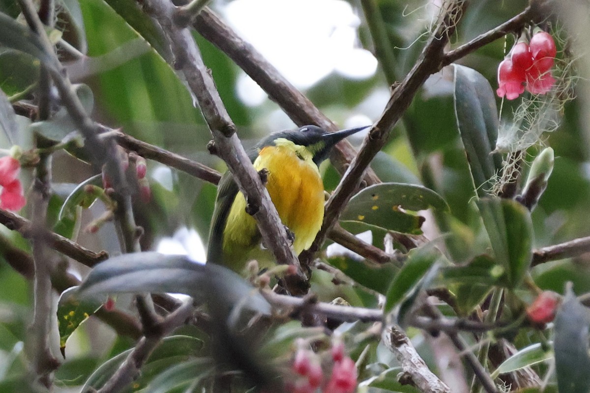
[[[498,137],[498,111],[490,83],[479,72],[454,64],[455,115],[467,160],[480,197],[481,187],[501,169],[499,154],[491,154]]]

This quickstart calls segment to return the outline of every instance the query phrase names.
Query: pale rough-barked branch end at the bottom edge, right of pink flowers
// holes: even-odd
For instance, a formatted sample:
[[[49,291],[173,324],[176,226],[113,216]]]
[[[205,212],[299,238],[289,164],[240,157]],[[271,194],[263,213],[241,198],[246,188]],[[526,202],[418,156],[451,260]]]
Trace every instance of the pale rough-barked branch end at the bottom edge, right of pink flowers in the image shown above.
[[[401,329],[386,326],[382,333],[383,344],[393,352],[402,366],[404,374],[411,379],[421,392],[451,393],[451,389],[426,365],[414,345]],[[402,375],[402,378],[404,375]]]

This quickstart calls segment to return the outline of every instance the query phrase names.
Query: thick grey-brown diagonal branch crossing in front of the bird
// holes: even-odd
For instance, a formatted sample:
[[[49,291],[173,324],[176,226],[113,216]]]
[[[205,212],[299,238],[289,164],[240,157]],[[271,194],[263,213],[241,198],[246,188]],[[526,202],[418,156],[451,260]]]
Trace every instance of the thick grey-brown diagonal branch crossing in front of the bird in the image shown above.
[[[195,95],[205,121],[213,135],[219,156],[227,163],[238,187],[251,207],[257,220],[263,242],[273,252],[277,262],[297,266],[299,285],[303,281],[303,272],[299,260],[291,249],[286,228],[278,217],[277,209],[268,196],[260,176],[252,166],[244,147],[235,134],[235,126],[219,97],[211,74],[203,64],[201,53],[196,47],[191,32],[179,28],[172,21],[175,7],[165,0],[148,0],[146,10],[162,26],[175,55],[175,68],[181,70],[186,77],[192,93]],[[293,276],[291,278],[295,279]],[[306,290],[301,285],[298,289],[291,285],[292,292]]]

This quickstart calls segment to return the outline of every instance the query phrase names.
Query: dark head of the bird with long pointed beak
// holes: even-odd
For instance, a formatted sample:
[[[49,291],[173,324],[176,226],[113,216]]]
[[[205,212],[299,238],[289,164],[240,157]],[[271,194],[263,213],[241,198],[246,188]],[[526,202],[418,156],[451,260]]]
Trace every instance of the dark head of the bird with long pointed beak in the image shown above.
[[[261,141],[259,146],[276,145],[289,141],[298,149],[303,148],[312,157],[313,162],[319,166],[339,141],[368,127],[370,126],[353,127],[329,133],[317,126],[303,126],[299,130],[278,131],[270,134]]]

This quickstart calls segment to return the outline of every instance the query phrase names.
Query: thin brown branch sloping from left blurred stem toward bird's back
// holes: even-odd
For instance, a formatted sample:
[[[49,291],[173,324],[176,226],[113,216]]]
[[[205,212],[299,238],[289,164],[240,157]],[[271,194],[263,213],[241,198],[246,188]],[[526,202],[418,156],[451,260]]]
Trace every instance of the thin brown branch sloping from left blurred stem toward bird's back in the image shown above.
[[[197,177],[198,179],[209,181],[209,183],[218,184],[219,179],[221,179],[221,174],[218,171],[211,169],[206,165],[189,160],[186,157],[182,157],[179,154],[172,153],[171,151],[158,146],[153,146],[152,144],[137,140],[121,131],[109,130],[108,132],[114,134],[117,143],[122,147],[127,150],[133,150],[144,158],[158,161],[161,164],[181,170],[191,176]]]

